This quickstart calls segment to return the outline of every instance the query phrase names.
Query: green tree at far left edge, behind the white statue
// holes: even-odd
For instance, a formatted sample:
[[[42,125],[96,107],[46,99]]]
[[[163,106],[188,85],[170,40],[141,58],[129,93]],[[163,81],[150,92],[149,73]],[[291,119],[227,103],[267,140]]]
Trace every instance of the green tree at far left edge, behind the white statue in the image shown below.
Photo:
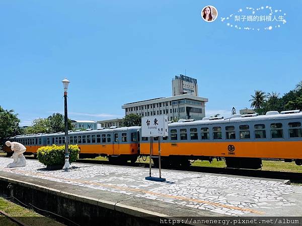
[[[0,106],[0,144],[3,143],[4,138],[21,133],[19,123],[18,114],[15,114],[14,110],[5,110]]]

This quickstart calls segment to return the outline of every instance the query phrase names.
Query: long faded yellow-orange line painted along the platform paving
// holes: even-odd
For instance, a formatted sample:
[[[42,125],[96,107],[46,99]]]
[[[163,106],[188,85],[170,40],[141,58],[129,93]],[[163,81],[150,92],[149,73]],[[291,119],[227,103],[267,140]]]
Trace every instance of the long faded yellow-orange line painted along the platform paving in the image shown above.
[[[3,168],[3,167],[0,167]],[[4,169],[4,168],[3,168]],[[17,171],[20,173],[27,173],[26,171],[22,171],[22,170],[12,170],[13,172]],[[211,202],[211,201],[206,201],[206,200],[200,200],[200,199],[192,199],[192,198],[187,198],[187,197],[181,197],[181,196],[176,196],[176,195],[169,195],[169,194],[161,194],[161,193],[157,193],[157,192],[153,192],[153,191],[147,191],[147,190],[142,190],[142,189],[134,189],[134,188],[125,188],[125,187],[121,187],[121,186],[117,186],[117,185],[110,185],[110,184],[103,184],[103,183],[99,183],[99,182],[90,182],[90,181],[82,181],[82,180],[76,180],[76,179],[66,179],[66,178],[62,178],[62,177],[56,177],[56,176],[48,176],[48,175],[44,175],[41,173],[31,173],[32,175],[37,175],[37,176],[43,176],[43,177],[49,177],[49,178],[55,178],[55,179],[63,179],[63,180],[67,180],[67,181],[71,181],[71,182],[77,182],[77,183],[81,183],[81,184],[89,184],[89,185],[100,185],[103,187],[110,187],[110,188],[115,188],[115,189],[120,189],[120,190],[126,190],[126,191],[139,191],[142,193],[146,193],[146,194],[153,194],[153,195],[157,195],[157,196],[163,196],[163,197],[167,197],[167,198],[174,198],[174,199],[181,199],[181,200],[186,200],[186,201],[191,201],[191,202],[199,202],[199,203],[206,203],[209,205],[214,205],[214,206],[220,206],[220,207],[224,207],[224,208],[229,208],[229,209],[236,209],[236,210],[241,210],[241,211],[249,211],[249,212],[253,212],[253,213],[259,213],[259,214],[264,214],[265,212],[261,212],[255,209],[250,209],[250,208],[241,208],[241,207],[237,207],[237,206],[231,206],[231,205],[225,205],[225,204],[221,204],[221,203],[217,203],[217,202]],[[42,178],[41,178],[42,179]]]

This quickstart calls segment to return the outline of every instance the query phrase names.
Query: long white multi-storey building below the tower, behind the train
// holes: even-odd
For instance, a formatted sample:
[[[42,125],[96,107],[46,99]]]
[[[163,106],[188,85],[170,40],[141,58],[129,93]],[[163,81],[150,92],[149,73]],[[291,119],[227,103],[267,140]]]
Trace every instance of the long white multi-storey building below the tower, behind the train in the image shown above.
[[[122,105],[125,116],[136,114],[142,117],[168,115],[169,120],[178,119],[201,120],[205,117],[207,98],[190,94],[142,100]]]

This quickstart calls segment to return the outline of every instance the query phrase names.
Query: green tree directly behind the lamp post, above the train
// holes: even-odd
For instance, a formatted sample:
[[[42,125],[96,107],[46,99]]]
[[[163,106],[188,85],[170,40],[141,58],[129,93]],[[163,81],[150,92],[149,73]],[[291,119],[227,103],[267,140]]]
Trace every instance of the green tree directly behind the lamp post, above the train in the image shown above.
[[[65,131],[64,116],[60,113],[54,113],[47,118],[48,123],[48,133],[57,133]],[[67,121],[68,130],[73,130],[74,127],[71,121]]]

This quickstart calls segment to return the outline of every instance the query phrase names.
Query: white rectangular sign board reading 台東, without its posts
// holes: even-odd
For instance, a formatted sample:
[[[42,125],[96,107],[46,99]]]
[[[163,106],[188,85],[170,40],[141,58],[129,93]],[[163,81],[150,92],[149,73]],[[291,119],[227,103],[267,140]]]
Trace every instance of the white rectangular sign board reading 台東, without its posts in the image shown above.
[[[149,116],[141,118],[142,137],[167,137],[168,116]]]

